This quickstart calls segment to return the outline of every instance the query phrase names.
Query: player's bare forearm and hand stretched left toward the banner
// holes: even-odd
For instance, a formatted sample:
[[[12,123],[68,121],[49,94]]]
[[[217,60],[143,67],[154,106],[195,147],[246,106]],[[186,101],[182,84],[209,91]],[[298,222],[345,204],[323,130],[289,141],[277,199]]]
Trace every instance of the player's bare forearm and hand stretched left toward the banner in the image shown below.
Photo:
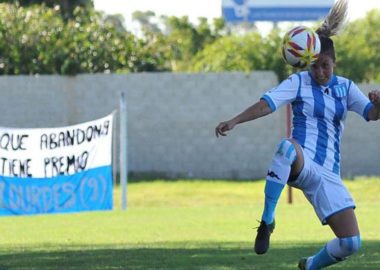
[[[260,100],[234,118],[219,123],[219,125],[217,125],[215,128],[215,135],[216,137],[219,137],[219,135],[226,136],[226,131],[233,129],[237,124],[255,120],[257,118],[268,115],[271,112],[272,109],[269,107],[268,103],[265,100]]]

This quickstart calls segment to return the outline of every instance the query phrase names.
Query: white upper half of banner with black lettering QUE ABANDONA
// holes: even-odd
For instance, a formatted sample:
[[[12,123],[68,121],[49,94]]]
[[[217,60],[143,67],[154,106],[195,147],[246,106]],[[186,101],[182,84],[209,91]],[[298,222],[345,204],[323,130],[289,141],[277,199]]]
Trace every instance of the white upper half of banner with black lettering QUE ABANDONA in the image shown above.
[[[51,178],[110,166],[113,116],[78,125],[0,127],[0,175]]]

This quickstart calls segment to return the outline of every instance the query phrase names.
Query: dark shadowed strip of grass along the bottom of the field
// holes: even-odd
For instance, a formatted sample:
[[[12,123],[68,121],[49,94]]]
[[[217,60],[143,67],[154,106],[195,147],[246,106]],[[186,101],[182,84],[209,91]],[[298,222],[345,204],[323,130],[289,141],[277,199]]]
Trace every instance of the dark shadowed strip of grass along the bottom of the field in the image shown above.
[[[332,268],[380,269],[379,246],[380,241],[365,241],[358,254]],[[30,247],[22,251],[0,247],[0,269],[297,269],[299,258],[320,248],[321,244],[274,244],[268,254],[257,256],[250,243]]]

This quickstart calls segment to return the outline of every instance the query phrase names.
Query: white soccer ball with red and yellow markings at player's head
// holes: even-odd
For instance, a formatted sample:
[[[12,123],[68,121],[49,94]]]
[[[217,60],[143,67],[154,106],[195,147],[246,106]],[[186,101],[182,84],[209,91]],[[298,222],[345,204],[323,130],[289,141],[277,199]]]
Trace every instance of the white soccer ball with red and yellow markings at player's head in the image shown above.
[[[318,59],[321,42],[318,34],[304,26],[297,26],[287,32],[282,42],[282,56],[296,68],[305,68]]]

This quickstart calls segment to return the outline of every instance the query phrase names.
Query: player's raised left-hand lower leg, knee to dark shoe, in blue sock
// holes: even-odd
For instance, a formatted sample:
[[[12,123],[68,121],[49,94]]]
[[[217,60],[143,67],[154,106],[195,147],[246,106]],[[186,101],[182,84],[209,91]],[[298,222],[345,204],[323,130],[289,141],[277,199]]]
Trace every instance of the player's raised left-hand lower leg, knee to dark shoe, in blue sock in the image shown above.
[[[275,227],[276,205],[289,179],[291,166],[296,157],[293,143],[283,139],[277,147],[266,177],[264,212],[255,239],[254,249],[257,254],[264,254],[269,249],[270,235]]]

